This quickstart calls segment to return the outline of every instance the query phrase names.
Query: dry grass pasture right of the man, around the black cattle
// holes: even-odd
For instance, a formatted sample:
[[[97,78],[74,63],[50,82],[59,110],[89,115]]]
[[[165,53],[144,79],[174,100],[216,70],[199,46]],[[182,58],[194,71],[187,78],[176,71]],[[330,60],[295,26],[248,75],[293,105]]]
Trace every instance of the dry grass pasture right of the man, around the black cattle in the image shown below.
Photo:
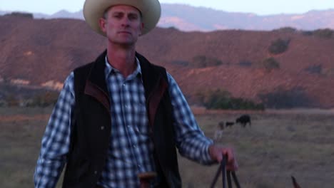
[[[301,187],[334,187],[334,113],[328,110],[270,110],[250,113],[251,127],[233,125],[216,140],[236,150],[239,181],[249,188],[293,187],[291,175]],[[208,137],[218,122],[233,121],[238,112],[206,111],[196,115]],[[208,187],[216,173],[181,159],[183,187]],[[217,187],[221,187],[218,184]]]

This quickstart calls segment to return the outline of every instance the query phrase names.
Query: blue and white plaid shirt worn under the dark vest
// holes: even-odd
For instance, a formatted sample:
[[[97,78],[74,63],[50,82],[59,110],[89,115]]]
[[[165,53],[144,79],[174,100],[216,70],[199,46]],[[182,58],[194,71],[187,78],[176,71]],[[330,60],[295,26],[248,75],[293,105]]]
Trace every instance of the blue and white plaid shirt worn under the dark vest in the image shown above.
[[[103,187],[139,187],[137,174],[154,171],[153,142],[148,136],[146,98],[141,67],[127,78],[106,60],[106,83],[111,97],[111,140],[108,161],[98,184]],[[208,145],[176,81],[168,74],[178,152],[201,164],[211,164]],[[37,161],[35,187],[55,187],[69,152],[75,103],[74,73],[64,83],[59,100],[46,126]]]

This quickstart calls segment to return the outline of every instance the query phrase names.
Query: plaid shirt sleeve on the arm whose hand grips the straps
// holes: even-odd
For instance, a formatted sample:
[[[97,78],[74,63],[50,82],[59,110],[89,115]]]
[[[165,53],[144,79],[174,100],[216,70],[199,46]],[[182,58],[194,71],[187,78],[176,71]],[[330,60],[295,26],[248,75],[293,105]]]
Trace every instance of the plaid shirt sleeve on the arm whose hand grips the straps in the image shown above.
[[[167,76],[178,152],[189,160],[201,164],[212,164],[213,160],[209,155],[208,147],[213,144],[213,140],[204,135],[178,84],[169,73]]]

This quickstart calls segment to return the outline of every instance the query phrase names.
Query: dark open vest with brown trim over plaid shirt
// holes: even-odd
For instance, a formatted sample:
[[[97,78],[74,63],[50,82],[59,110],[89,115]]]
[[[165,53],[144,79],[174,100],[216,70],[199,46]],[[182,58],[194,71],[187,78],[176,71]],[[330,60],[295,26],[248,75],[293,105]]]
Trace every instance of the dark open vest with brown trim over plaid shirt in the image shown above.
[[[111,113],[105,69],[106,51],[74,70],[76,105],[63,187],[93,188],[101,176],[111,137]],[[181,187],[166,69],[136,53],[141,63],[156,170],[161,185]]]

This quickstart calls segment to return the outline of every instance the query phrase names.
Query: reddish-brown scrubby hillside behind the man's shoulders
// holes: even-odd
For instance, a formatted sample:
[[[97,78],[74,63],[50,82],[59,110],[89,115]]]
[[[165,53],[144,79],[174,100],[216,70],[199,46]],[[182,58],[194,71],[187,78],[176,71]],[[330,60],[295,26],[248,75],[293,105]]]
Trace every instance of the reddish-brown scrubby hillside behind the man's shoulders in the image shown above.
[[[66,75],[93,61],[105,38],[78,19],[0,16],[0,83],[61,88]],[[334,33],[331,30],[184,32],[155,28],[137,51],[165,66],[191,103],[198,93],[334,108]],[[0,93],[1,94],[1,93]]]

